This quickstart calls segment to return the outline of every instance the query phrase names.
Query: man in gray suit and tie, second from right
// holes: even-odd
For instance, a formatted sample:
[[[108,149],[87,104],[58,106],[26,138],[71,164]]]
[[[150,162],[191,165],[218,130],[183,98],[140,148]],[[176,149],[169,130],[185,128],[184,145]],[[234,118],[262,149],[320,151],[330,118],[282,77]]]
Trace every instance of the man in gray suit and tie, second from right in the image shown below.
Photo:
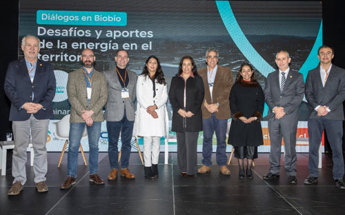
[[[282,138],[284,139],[284,167],[289,183],[296,178],[296,134],[299,105],[304,96],[303,75],[290,70],[291,59],[285,50],[279,51],[275,63],[279,70],[268,74],[265,85],[265,100],[268,110],[268,132],[270,134],[270,171],[265,180],[279,177]]]

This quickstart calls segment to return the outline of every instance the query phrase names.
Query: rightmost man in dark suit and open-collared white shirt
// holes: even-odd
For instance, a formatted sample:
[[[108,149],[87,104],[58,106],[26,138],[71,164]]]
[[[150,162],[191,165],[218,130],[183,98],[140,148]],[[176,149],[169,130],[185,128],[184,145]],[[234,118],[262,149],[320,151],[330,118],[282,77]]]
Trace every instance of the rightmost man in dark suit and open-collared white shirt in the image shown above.
[[[334,49],[322,45],[317,51],[319,66],[310,70],[306,76],[306,100],[309,107],[309,176],[304,184],[317,182],[319,145],[322,132],[326,130],[333,154],[333,178],[335,185],[345,189],[342,136],[345,99],[345,70],[332,64]]]

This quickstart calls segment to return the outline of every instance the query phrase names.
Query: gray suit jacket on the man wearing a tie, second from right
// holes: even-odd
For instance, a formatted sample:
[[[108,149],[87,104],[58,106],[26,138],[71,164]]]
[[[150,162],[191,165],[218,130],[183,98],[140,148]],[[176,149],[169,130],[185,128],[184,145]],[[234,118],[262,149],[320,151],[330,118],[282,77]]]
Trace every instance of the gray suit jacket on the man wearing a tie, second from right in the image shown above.
[[[274,107],[284,107],[286,115],[280,119],[285,123],[297,123],[299,105],[304,96],[303,74],[290,70],[286,78],[283,92],[280,92],[279,70],[268,74],[265,85],[265,101],[269,107],[267,119],[274,121]]]

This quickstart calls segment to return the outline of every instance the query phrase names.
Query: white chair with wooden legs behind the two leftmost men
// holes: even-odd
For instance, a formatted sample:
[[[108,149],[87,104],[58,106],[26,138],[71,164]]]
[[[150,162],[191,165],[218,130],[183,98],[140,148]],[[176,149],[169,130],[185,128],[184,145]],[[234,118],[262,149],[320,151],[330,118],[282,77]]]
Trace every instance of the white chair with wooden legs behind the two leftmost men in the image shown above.
[[[69,134],[70,134],[70,114],[63,116],[63,118],[60,121],[55,123],[55,136],[57,136],[58,139],[66,140],[65,145],[63,145],[63,149],[61,151],[60,158],[59,158],[59,164],[57,165],[57,167],[60,167],[63,154],[65,154]],[[88,137],[88,130],[86,130],[86,127],[85,127],[83,131],[83,135],[81,136],[81,139],[85,139],[87,137]],[[88,165],[86,163],[85,154],[83,152],[83,147],[81,147],[81,144],[80,144],[80,151],[81,151],[81,155],[83,156],[85,165]]]

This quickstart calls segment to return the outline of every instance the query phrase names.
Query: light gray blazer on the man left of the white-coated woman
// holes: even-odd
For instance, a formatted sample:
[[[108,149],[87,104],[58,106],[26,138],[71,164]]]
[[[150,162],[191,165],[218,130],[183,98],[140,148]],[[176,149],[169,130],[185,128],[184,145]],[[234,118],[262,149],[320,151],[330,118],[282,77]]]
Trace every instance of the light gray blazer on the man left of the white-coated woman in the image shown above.
[[[122,99],[122,87],[116,69],[113,68],[104,72],[108,84],[108,102],[106,103],[105,113],[106,121],[120,121],[124,117],[125,110],[128,121],[134,121],[135,119],[134,101],[136,98],[135,87],[137,85],[137,74],[128,69],[127,74],[129,78],[127,88],[129,89],[130,97],[128,99]]]

